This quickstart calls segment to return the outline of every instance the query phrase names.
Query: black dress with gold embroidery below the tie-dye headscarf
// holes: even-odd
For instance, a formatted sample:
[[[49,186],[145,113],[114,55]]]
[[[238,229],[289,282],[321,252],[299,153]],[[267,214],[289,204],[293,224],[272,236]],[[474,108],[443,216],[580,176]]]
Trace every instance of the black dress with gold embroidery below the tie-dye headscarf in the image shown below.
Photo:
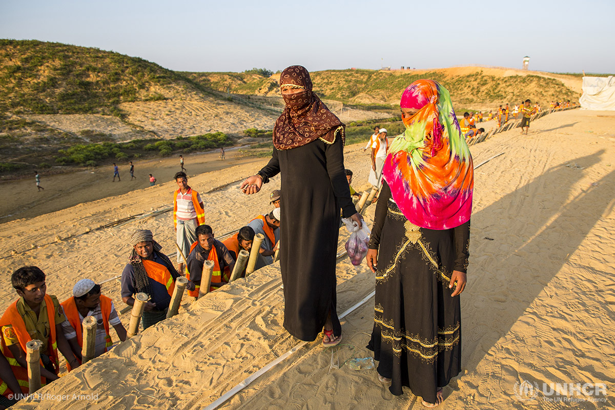
[[[448,285],[466,272],[470,222],[452,229],[411,224],[383,182],[370,249],[378,249],[374,328],[368,348],[378,373],[435,403],[436,390],[461,371],[461,307]]]

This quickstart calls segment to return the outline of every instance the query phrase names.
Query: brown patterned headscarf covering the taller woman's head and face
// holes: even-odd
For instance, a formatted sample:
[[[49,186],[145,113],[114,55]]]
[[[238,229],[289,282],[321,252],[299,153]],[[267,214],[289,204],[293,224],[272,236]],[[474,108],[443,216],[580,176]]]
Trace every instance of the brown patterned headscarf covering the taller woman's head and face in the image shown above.
[[[292,85],[303,91],[282,95],[286,106],[273,128],[277,149],[291,149],[321,139],[333,144],[339,134],[344,144],[344,124],[312,92],[312,80],[303,66],[290,66],[280,76],[280,87]]]

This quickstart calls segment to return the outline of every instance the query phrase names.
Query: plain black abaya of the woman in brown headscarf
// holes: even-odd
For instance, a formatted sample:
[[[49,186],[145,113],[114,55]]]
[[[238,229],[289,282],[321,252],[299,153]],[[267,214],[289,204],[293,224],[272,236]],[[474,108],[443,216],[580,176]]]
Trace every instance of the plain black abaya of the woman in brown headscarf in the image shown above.
[[[280,270],[284,283],[284,327],[313,341],[331,312],[334,336],[341,335],[336,312],[335,261],[339,210],[356,213],[344,172],[344,146],[315,140],[304,146],[274,148],[258,172],[267,183],[281,174]]]

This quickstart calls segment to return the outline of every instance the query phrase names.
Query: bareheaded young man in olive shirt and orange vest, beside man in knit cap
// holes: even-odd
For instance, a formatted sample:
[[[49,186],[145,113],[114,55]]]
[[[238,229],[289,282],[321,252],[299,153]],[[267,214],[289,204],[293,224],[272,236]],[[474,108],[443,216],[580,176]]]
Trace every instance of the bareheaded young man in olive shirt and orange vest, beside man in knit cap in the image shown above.
[[[13,302],[2,318],[1,349],[7,358],[13,374],[23,393],[28,393],[28,364],[26,343],[32,339],[42,342],[41,384],[58,379],[58,349],[73,368],[79,361],[73,354],[62,331],[66,320],[60,302],[55,296],[46,294],[44,272],[36,266],[24,266],[15,270],[10,282],[20,296]],[[9,390],[5,390],[7,396]],[[20,393],[20,392],[12,392]]]

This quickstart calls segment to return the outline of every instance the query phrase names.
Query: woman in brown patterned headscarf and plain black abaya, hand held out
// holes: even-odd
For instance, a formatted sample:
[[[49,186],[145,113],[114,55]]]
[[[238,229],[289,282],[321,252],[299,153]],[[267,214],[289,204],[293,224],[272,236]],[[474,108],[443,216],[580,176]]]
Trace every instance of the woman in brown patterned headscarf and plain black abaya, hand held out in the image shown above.
[[[332,346],[342,338],[335,292],[339,209],[362,223],[344,171],[344,124],[312,92],[302,66],[282,71],[280,90],[285,108],[274,125],[273,156],[241,188],[255,194],[281,174],[284,327],[303,341],[323,331],[323,344]]]

